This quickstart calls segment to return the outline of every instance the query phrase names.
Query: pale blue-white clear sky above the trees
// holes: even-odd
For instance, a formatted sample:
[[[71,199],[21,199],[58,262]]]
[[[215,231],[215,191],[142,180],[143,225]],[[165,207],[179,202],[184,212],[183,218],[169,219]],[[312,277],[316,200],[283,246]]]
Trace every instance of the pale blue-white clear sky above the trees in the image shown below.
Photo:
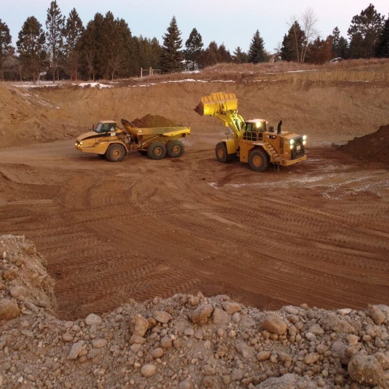
[[[269,52],[274,51],[288,30],[287,22],[291,16],[301,15],[307,7],[311,7],[318,17],[317,29],[321,37],[331,34],[335,26],[339,27],[341,35],[347,37],[351,19],[368,7],[370,1],[57,0],[57,3],[66,17],[75,7],[84,25],[96,12],[104,15],[107,11],[111,11],[115,18],[124,18],[132,35],[155,36],[160,43],[174,15],[182,33],[183,45],[195,27],[202,35],[204,47],[215,40],[219,45],[224,43],[232,53],[237,46],[248,51],[252,36],[257,29],[264,39],[265,49]],[[388,17],[388,0],[375,0],[373,4],[381,15]],[[50,0],[0,0],[0,19],[8,25],[14,46],[18,40],[18,32],[29,16],[35,16],[45,28],[49,6]]]

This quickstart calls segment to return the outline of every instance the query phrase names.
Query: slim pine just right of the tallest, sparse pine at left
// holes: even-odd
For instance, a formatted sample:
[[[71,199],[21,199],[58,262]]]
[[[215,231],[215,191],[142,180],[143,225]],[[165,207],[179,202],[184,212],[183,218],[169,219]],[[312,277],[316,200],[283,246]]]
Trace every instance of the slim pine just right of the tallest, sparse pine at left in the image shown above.
[[[66,26],[64,29],[65,45],[64,54],[66,58],[66,64],[71,76],[71,80],[78,78],[79,60],[81,55],[80,39],[84,31],[82,21],[78,16],[75,8],[73,8],[66,20]]]

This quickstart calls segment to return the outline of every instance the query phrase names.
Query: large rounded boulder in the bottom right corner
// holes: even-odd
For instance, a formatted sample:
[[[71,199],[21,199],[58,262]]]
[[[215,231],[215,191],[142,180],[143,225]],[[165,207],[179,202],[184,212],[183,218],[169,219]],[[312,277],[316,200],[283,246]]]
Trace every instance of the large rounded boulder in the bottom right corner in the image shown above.
[[[384,370],[372,355],[354,355],[348,366],[350,378],[359,384],[379,386],[384,384]]]

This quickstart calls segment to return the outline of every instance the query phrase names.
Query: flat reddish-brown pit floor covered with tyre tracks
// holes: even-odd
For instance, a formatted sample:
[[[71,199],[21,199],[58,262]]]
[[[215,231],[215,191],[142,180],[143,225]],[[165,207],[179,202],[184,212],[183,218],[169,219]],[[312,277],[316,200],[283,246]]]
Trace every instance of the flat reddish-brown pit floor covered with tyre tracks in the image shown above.
[[[264,308],[389,301],[387,169],[326,146],[256,173],[204,138],[159,161],[73,141],[0,150],[0,231],[47,258],[61,318],[198,290]]]

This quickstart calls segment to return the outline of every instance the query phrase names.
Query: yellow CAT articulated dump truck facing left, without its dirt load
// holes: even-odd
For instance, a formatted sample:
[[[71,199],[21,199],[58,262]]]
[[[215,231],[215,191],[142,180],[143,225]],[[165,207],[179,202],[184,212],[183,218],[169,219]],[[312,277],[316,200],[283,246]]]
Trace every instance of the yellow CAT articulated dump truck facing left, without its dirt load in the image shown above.
[[[122,124],[124,128],[113,121],[99,122],[93,131],[76,139],[76,149],[99,154],[111,162],[122,161],[131,150],[138,150],[151,159],[162,159],[166,154],[177,158],[184,152],[184,145],[178,139],[191,133],[186,126],[141,128],[125,119]]]

